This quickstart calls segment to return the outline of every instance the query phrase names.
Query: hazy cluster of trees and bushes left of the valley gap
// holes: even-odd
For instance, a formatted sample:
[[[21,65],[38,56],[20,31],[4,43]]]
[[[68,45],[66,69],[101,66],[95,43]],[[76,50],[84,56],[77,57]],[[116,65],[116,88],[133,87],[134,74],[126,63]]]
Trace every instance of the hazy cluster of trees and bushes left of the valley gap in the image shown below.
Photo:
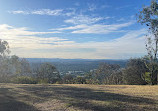
[[[56,83],[60,80],[60,74],[52,64],[43,63],[32,69],[26,59],[9,53],[8,42],[0,40],[1,83]]]

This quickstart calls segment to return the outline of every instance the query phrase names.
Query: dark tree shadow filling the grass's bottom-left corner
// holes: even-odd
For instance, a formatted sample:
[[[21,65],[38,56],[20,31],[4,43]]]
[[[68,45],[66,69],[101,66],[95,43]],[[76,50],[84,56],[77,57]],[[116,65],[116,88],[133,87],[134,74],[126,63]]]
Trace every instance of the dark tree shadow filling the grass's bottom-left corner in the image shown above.
[[[0,111],[39,111],[35,107],[17,101],[9,88],[0,88]]]

